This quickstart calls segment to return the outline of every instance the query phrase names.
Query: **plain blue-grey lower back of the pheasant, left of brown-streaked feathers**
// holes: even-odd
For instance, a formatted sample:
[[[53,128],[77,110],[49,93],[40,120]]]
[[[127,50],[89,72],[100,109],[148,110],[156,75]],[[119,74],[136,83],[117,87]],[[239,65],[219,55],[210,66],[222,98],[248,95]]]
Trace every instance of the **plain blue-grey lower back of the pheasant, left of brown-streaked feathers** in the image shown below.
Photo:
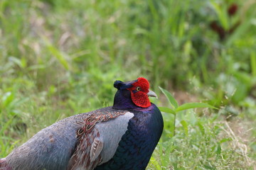
[[[12,169],[66,169],[77,142],[76,130],[86,114],[75,115],[50,125],[14,149],[6,157]]]

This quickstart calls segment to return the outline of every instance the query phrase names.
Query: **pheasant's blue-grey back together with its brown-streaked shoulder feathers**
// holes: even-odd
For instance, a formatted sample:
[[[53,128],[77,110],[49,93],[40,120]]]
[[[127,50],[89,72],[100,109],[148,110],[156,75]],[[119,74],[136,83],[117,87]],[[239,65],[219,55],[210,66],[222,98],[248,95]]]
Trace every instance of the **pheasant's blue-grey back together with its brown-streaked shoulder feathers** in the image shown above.
[[[60,120],[14,149],[5,159],[1,159],[0,169],[62,170],[86,167],[90,162],[92,142],[99,135],[93,127],[126,112],[110,106]],[[100,155],[88,167],[92,168],[99,162]]]

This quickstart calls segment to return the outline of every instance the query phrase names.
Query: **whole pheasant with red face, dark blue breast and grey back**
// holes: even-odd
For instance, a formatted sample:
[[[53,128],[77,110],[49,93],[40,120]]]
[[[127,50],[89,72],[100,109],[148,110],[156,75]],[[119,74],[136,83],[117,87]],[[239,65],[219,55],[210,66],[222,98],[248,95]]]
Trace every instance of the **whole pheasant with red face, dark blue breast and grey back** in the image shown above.
[[[114,81],[114,105],[50,125],[0,159],[1,170],[146,169],[164,123],[149,81]]]

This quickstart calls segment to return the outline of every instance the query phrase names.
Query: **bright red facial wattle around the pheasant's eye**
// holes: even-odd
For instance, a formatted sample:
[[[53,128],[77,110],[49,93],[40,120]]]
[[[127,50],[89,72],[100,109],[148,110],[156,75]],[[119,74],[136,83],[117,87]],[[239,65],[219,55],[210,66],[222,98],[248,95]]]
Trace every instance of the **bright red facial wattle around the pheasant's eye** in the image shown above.
[[[149,81],[143,77],[139,77],[138,81],[132,84],[132,88],[128,89],[131,91],[132,102],[139,107],[148,108],[151,106],[149,101]]]

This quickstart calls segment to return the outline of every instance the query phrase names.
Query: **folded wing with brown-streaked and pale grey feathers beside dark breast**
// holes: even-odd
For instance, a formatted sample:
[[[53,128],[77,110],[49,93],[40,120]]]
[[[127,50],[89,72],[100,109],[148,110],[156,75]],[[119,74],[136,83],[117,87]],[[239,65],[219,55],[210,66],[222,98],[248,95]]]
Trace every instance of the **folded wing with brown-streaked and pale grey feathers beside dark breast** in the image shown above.
[[[109,161],[114,156],[118,143],[127,131],[128,122],[133,116],[133,113],[124,111],[116,118],[96,123],[91,131],[81,133],[68,169],[92,170]]]

